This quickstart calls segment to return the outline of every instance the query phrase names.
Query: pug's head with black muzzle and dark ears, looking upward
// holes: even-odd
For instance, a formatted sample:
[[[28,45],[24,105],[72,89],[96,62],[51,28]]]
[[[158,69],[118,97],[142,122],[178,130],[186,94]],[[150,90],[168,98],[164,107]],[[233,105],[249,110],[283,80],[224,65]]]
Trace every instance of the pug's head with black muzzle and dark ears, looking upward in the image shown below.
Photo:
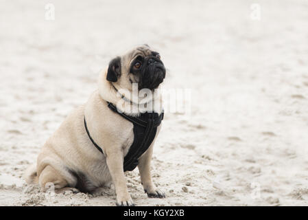
[[[121,88],[132,89],[132,83],[138,83],[138,89],[156,89],[166,75],[165,66],[158,52],[148,45],[136,47],[123,56],[110,61],[107,80],[117,83]]]

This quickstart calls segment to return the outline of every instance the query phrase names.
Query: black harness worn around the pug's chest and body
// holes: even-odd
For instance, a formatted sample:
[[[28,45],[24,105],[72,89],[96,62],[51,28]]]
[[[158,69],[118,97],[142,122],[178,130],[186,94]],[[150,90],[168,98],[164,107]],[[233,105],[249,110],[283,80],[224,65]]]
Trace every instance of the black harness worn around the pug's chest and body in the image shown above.
[[[113,112],[118,113],[126,120],[132,122],[134,124],[134,142],[132,142],[132,146],[130,146],[130,150],[127,155],[124,157],[123,169],[125,171],[132,171],[138,165],[138,159],[147,151],[147,148],[152,144],[154,137],[156,135],[157,127],[161,124],[163,120],[164,113],[158,115],[158,113],[141,113],[138,117],[132,117],[130,115],[126,115],[125,113],[120,113],[117,111],[117,107],[110,102],[108,103],[109,109]],[[96,146],[96,148],[103,153],[102,148],[100,148],[90,133],[88,132],[88,127],[86,126],[86,118],[84,118],[84,127],[86,128],[86,133],[90,138],[91,142]],[[104,154],[104,153],[103,153]]]

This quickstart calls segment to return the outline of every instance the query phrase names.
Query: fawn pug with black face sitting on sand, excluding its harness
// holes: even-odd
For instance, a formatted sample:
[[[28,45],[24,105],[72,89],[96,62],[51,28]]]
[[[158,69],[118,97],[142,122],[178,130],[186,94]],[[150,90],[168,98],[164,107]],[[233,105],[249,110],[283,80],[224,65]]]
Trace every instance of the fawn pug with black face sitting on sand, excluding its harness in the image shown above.
[[[86,104],[69,113],[45,142],[36,164],[25,173],[27,183],[39,184],[43,191],[53,184],[56,192],[72,190],[89,193],[99,192],[104,186],[114,184],[116,204],[134,206],[123,170],[124,157],[134,142],[134,124],[122,116],[138,118],[141,111],[131,109],[136,109],[141,103],[145,109],[152,103],[158,103],[159,107],[154,111],[161,115],[162,98],[128,96],[127,93],[121,94],[120,90],[132,92],[133,85],[138,85],[139,90],[154,91],[163,83],[165,73],[160,54],[148,45],[141,45],[112,59],[108,69],[99,74],[98,89]],[[122,115],[111,111],[108,107],[110,103]],[[161,124],[150,146],[137,158],[137,166],[148,197],[164,198],[165,193],[154,186],[150,174],[153,146],[160,129]]]

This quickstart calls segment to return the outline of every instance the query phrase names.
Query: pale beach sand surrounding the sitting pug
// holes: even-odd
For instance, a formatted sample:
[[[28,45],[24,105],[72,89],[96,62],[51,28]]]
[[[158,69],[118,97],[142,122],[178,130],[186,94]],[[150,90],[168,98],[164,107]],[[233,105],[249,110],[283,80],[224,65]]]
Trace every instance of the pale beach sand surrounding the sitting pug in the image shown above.
[[[114,188],[54,195],[22,175],[99,70],[147,43],[168,69],[164,88],[191,89],[191,114],[166,113],[154,147],[167,198],[147,198],[134,170],[134,202],[307,206],[307,11],[305,0],[1,1],[0,205],[115,206]]]

